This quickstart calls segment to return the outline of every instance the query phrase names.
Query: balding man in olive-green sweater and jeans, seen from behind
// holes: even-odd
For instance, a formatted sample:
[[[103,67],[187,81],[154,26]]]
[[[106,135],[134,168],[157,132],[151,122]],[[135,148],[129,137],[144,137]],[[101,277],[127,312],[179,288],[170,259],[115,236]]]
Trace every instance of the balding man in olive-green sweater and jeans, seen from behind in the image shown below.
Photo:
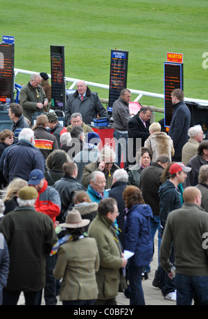
[[[200,207],[199,189],[187,187],[183,197],[182,208],[168,214],[159,262],[173,279],[173,268],[169,264],[173,243],[177,305],[191,305],[194,293],[199,305],[208,305],[208,214]]]

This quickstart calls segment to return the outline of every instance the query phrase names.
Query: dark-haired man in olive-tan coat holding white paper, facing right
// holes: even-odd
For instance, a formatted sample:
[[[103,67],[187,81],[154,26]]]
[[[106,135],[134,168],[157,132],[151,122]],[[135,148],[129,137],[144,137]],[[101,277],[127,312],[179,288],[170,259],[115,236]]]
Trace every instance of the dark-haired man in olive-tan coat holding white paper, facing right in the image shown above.
[[[98,204],[98,214],[88,228],[88,236],[96,239],[100,268],[96,273],[98,300],[95,305],[115,305],[119,291],[120,273],[127,264],[122,257],[116,230],[112,227],[118,216],[117,202],[105,198]]]

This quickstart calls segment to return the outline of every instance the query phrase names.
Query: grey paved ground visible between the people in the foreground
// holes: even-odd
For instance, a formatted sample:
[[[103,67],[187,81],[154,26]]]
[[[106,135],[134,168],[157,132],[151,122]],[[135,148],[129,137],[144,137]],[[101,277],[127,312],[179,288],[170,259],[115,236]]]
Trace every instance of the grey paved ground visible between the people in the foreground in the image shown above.
[[[169,301],[169,300],[164,300],[164,297],[162,296],[161,291],[158,288],[153,287],[152,282],[155,277],[155,270],[157,270],[157,238],[155,238],[155,255],[153,258],[153,261],[151,263],[151,271],[148,274],[149,279],[144,280],[142,282],[142,286],[144,289],[144,299],[146,302],[146,305],[148,306],[155,306],[155,305],[160,305],[160,306],[174,306],[176,303]],[[129,305],[129,299],[125,298],[125,295],[123,293],[119,293],[117,296],[117,303],[118,305]],[[24,304],[24,295],[21,294],[19,298],[19,305]],[[44,298],[42,299],[42,305],[44,305]],[[62,305],[62,302],[60,302],[59,297],[58,297],[58,305]]]

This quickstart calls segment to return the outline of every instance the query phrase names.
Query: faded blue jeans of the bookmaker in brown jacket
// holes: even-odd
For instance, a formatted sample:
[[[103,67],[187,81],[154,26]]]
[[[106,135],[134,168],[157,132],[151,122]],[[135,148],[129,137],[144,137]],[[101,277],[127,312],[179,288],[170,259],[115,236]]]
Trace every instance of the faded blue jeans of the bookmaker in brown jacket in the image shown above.
[[[114,130],[114,141],[115,141],[115,152],[116,152],[116,160],[115,164],[119,165],[121,164],[121,157],[123,154],[123,163],[124,167],[126,167],[126,163],[128,163],[128,134],[120,133],[116,130]]]

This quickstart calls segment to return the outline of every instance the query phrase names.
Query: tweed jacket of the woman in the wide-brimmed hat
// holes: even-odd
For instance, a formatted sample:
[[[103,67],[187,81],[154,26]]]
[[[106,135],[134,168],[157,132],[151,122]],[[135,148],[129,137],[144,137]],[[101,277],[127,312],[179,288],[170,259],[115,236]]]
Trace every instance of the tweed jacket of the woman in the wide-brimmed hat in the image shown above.
[[[58,260],[53,270],[61,279],[60,300],[97,299],[96,271],[99,254],[95,239],[83,238],[60,246]]]

